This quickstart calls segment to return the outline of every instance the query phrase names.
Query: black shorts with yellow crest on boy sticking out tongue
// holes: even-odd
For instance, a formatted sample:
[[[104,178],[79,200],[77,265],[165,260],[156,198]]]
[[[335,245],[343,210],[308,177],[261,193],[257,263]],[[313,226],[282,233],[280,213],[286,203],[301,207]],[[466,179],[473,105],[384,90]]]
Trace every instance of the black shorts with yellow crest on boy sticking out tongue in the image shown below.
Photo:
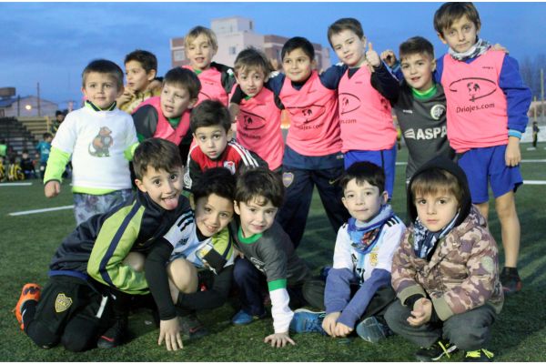
[[[112,324],[110,306],[111,298],[86,281],[54,276],[42,290],[26,333],[40,346],[55,345],[64,336],[75,334],[93,340]]]

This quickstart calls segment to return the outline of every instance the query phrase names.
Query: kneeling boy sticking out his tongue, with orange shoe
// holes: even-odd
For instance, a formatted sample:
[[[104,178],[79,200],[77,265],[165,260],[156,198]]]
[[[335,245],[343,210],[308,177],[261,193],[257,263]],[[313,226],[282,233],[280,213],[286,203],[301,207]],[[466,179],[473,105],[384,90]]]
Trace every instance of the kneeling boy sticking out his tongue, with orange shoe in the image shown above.
[[[43,292],[34,283],[23,287],[15,317],[36,345],[48,349],[62,342],[70,351],[82,351],[111,348],[125,339],[125,296],[146,294],[148,285],[124,258],[134,248],[155,248],[154,237],[167,233],[189,209],[180,195],[182,161],[174,144],[145,140],[133,161],[139,187],[133,201],[90,217],[65,238]]]

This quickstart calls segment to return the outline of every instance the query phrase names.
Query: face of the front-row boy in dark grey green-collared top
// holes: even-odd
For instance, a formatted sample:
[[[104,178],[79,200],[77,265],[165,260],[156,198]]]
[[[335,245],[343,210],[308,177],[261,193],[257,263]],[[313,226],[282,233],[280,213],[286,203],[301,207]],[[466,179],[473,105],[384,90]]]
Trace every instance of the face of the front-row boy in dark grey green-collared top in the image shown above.
[[[278,207],[273,206],[271,201],[263,204],[264,197],[253,197],[251,201],[235,201],[235,212],[238,213],[241,220],[241,230],[245,238],[261,234],[268,230],[275,221]]]

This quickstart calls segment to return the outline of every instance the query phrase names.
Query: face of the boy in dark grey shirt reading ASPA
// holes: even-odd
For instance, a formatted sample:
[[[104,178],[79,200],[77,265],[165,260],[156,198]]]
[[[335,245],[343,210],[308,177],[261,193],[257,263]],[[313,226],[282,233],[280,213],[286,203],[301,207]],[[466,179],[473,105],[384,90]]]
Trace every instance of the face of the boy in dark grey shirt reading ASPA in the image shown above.
[[[432,72],[436,69],[436,60],[424,53],[404,56],[400,68],[409,86],[418,91],[430,90],[433,84]]]

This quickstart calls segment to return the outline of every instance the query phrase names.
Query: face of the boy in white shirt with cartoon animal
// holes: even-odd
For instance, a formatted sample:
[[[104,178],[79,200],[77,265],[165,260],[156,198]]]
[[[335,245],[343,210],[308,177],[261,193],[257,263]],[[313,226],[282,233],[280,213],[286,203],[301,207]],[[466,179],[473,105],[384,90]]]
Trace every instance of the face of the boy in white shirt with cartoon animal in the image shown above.
[[[105,109],[112,105],[118,96],[121,96],[123,89],[117,88],[115,76],[98,72],[89,72],[86,76],[86,84],[82,92],[87,100],[95,106]]]

